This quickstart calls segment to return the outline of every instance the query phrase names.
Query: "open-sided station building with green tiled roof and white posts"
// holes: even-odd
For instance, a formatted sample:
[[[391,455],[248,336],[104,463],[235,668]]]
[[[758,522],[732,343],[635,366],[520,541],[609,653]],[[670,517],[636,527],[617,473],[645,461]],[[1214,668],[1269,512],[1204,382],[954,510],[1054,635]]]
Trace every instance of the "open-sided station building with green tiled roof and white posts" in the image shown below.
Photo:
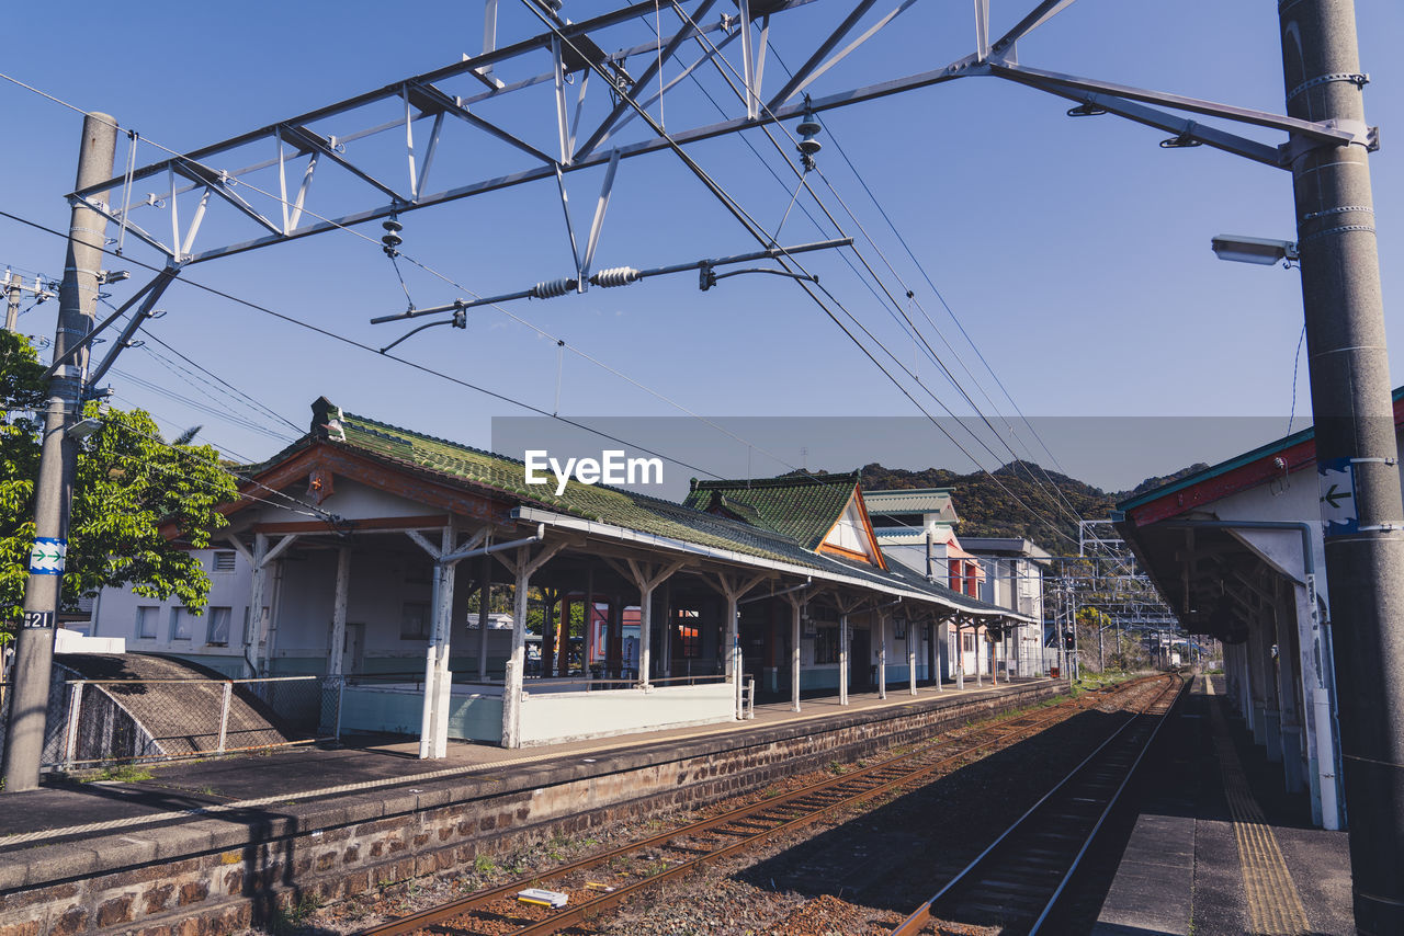
[[[432,758],[730,720],[747,690],[795,710],[915,693],[962,637],[1035,620],[889,561],[856,474],[675,504],[524,469],[317,400],[306,436],[244,469],[206,612],[110,591],[93,633],[326,676],[343,730],[418,734]]]

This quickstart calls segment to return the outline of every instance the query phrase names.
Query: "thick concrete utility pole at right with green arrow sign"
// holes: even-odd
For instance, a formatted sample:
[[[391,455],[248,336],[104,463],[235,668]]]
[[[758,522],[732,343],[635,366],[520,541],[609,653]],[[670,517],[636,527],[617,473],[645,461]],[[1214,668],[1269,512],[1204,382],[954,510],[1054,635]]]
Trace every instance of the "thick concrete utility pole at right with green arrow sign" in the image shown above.
[[[1355,4],[1280,0],[1287,115],[1366,131]],[[1289,146],[1296,145],[1293,139]],[[1404,932],[1404,507],[1369,153],[1293,150],[1317,469],[1353,476],[1352,525],[1324,525],[1351,887],[1362,933]]]

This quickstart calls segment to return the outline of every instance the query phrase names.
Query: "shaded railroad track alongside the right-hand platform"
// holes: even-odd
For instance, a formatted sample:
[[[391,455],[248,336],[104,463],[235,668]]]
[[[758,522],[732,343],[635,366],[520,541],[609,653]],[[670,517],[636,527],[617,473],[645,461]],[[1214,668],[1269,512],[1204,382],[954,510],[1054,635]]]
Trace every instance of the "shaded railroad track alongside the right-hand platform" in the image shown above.
[[[1014,821],[984,852],[922,904],[892,936],[936,932],[938,921],[1000,926],[1032,936],[1047,921],[1068,880],[1116,804],[1185,681],[1165,688]]]

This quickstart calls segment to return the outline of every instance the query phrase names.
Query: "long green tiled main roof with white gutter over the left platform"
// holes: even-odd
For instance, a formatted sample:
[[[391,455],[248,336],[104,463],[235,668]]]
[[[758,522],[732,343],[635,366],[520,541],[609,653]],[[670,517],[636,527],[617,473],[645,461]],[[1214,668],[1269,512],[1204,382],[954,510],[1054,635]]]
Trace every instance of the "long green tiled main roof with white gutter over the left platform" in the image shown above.
[[[498,501],[505,500],[515,504],[512,509],[517,515],[529,518],[531,522],[548,522],[625,542],[654,543],[723,561],[753,563],[789,574],[809,574],[893,594],[908,594],[972,615],[1018,617],[1008,609],[960,595],[920,575],[893,574],[873,566],[820,554],[814,547],[781,532],[731,516],[706,514],[687,504],[604,484],[581,484],[576,480],[569,481],[564,491],[556,495],[553,484],[539,487],[525,484],[525,464],[517,459],[345,413],[326,399],[313,404],[312,434],[264,464],[247,470],[254,476],[253,484],[247,487],[258,488],[263,479],[271,477],[281,466],[317,446],[331,446],[336,452],[372,460],[431,484],[479,491]],[[834,508],[837,518],[847,500],[856,493],[858,476],[827,477],[844,479],[833,486],[844,491],[844,500]],[[819,494],[814,495],[817,500]],[[239,509],[249,502],[251,501],[243,501],[234,508]],[[827,532],[828,528],[821,530],[820,539]]]

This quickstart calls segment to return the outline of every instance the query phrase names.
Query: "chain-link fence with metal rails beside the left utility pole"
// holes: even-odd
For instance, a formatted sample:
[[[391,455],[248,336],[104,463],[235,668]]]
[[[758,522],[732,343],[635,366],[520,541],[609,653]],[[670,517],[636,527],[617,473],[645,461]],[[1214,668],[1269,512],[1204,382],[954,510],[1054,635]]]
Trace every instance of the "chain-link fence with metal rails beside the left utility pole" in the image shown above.
[[[80,769],[310,744],[337,735],[340,683],[334,676],[55,679],[42,765]]]

